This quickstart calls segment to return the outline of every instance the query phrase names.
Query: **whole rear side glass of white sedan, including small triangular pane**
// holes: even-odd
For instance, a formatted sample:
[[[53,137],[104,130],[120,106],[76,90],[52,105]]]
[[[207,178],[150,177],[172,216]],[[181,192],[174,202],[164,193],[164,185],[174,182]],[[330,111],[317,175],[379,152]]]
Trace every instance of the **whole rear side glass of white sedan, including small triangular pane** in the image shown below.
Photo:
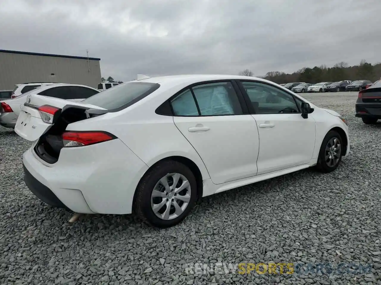
[[[175,116],[243,114],[237,93],[235,93],[231,82],[216,82],[194,86],[174,98],[171,105]]]

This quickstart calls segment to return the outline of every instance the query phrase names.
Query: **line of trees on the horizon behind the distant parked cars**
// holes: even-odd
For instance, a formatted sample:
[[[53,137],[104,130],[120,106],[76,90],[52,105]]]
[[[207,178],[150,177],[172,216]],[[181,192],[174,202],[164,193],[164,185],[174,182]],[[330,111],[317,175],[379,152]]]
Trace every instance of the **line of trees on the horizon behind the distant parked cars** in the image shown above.
[[[240,75],[253,76],[249,69],[243,70]],[[381,63],[372,65],[366,60],[361,60],[359,65],[349,66],[346,62],[338,62],[333,67],[326,65],[315,66],[313,68],[303,67],[294,73],[284,73],[281,71],[269,71],[265,76],[257,76],[282,84],[288,82],[335,82],[341,80],[359,80],[368,79],[372,82],[381,77]]]

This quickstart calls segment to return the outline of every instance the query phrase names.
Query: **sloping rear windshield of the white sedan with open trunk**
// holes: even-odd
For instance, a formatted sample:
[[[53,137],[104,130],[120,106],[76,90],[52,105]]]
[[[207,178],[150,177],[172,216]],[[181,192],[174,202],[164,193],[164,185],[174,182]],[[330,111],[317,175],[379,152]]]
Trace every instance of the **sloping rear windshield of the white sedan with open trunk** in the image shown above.
[[[107,110],[128,107],[154,92],[159,87],[160,85],[157,83],[126,82],[114,88],[99,92],[82,102]]]

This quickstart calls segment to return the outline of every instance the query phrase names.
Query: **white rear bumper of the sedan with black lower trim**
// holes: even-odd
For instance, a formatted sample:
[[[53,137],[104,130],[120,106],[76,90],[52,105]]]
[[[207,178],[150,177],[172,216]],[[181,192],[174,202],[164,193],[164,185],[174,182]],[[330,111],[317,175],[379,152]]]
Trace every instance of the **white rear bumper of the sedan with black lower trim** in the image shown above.
[[[43,202],[77,213],[132,212],[136,187],[148,166],[122,141],[62,149],[54,164],[41,160],[34,146],[22,161],[27,186]]]

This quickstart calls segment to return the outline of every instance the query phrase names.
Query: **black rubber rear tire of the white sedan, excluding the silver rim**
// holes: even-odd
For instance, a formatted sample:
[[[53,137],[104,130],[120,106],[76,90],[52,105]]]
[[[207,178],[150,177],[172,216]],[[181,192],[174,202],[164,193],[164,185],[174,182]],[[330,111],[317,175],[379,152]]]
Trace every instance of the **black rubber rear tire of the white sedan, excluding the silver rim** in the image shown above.
[[[163,220],[157,217],[152,210],[151,194],[157,182],[169,173],[179,173],[188,179],[191,185],[191,198],[181,215],[171,220]],[[158,228],[168,228],[180,223],[189,214],[197,201],[197,183],[194,174],[186,165],[173,160],[163,161],[149,169],[140,180],[136,191],[134,208],[138,217],[143,222]]]

